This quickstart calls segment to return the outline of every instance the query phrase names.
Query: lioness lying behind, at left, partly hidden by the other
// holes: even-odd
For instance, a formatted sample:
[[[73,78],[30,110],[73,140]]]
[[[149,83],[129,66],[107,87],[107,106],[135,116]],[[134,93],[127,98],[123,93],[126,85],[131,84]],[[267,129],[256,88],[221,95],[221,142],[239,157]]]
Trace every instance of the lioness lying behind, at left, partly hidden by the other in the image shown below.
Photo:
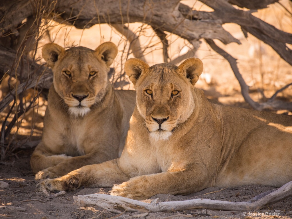
[[[81,166],[118,157],[124,147],[135,91],[114,90],[107,78],[117,46],[95,51],[46,44],[43,58],[53,70],[42,140],[30,164],[36,179],[60,177]]]

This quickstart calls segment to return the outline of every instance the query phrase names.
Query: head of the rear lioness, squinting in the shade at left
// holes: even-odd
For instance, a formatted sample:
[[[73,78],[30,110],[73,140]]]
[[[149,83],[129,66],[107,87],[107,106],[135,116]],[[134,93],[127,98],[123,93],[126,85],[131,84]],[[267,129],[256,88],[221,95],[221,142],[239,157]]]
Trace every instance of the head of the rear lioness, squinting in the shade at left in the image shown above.
[[[53,70],[55,91],[75,116],[84,116],[106,94],[109,66],[117,55],[117,46],[106,42],[94,51],[82,46],[65,50],[50,43],[42,50]]]

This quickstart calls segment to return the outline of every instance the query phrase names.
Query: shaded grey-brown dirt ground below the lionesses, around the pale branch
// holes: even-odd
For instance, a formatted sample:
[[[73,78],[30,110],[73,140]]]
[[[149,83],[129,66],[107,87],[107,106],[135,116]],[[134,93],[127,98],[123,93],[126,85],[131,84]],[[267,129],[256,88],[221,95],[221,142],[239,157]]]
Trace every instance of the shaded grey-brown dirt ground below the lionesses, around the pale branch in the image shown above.
[[[30,169],[29,159],[31,150],[24,150],[18,158],[13,157],[6,162],[0,163],[0,181],[8,183],[7,188],[0,188],[0,218],[35,218],[35,219],[94,219],[94,218],[244,218],[251,219],[249,213],[263,213],[267,216],[260,218],[292,218],[292,197],[267,205],[256,212],[241,211],[218,211],[211,209],[194,209],[171,213],[145,213],[145,212],[124,212],[119,214],[111,213],[98,207],[79,207],[74,204],[73,197],[78,195],[101,193],[109,194],[110,188],[81,188],[75,192],[67,192],[64,196],[48,198],[43,192],[35,192],[36,180]],[[159,198],[158,201],[182,201],[197,198],[213,199],[221,201],[247,201],[265,191],[274,190],[270,186],[242,186],[233,189],[208,188],[206,190],[182,195],[158,194],[144,202]],[[206,194],[214,192],[211,194]],[[246,213],[246,215],[245,215]],[[270,214],[270,216],[269,216]]]

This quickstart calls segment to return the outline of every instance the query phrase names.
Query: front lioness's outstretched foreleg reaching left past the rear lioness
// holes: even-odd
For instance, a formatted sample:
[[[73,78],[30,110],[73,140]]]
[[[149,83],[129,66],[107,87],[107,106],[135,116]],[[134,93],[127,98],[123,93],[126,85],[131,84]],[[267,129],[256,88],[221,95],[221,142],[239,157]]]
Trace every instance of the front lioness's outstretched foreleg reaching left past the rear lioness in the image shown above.
[[[36,190],[42,191],[43,187],[48,191],[75,190],[80,186],[112,187],[114,184],[122,183],[130,178],[119,168],[118,159],[83,166],[60,178],[46,179],[36,185]]]

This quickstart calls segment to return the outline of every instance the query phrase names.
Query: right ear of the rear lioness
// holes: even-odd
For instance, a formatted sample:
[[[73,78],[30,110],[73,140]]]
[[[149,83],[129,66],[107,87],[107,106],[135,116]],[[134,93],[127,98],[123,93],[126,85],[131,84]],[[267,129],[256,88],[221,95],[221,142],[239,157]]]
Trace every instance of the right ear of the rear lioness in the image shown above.
[[[103,60],[107,67],[112,65],[114,58],[118,54],[118,48],[112,42],[105,42],[95,49],[95,52],[100,60]]]

